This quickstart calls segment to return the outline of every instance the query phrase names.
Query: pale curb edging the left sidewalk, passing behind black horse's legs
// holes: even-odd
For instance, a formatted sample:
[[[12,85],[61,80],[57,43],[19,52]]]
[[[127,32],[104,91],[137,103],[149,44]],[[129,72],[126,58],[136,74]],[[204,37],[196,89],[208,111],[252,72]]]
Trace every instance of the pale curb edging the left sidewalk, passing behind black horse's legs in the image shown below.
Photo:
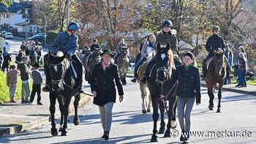
[[[83,99],[80,99],[79,106],[82,107],[83,105],[86,105],[88,102],[90,102],[91,96],[86,96]],[[70,102],[72,104],[72,102]],[[71,114],[74,111],[74,108],[70,108],[72,105],[69,105],[69,114]],[[56,118],[60,117],[59,110],[56,111]],[[50,120],[50,115],[42,118],[38,118],[37,121],[33,122],[27,122],[26,124],[10,124],[8,126],[0,127],[0,137],[6,136],[8,134],[15,134],[18,132],[23,132],[29,129],[34,129],[37,126],[40,126],[42,124],[48,123]]]

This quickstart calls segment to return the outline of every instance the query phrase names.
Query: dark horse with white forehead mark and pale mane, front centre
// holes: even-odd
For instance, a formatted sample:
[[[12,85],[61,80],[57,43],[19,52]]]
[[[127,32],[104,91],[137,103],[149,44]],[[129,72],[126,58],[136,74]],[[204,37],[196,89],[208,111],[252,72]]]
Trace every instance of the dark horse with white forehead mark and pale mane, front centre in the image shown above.
[[[157,50],[160,49],[159,43]],[[162,48],[161,48],[162,49]],[[153,106],[153,121],[154,128],[151,136],[151,142],[157,142],[157,121],[159,118],[158,107],[161,112],[161,126],[159,134],[164,134],[164,137],[170,137],[170,128],[175,129],[176,123],[176,89],[178,83],[171,86],[171,75],[175,70],[175,61],[173,59],[173,52],[170,50],[170,45],[166,48],[169,53],[158,51],[155,58],[155,64],[151,69],[148,77],[148,89],[151,94]],[[165,99],[160,99],[159,95],[165,94]],[[167,108],[167,100],[169,101],[169,108]],[[167,130],[165,131],[165,110],[168,115]]]

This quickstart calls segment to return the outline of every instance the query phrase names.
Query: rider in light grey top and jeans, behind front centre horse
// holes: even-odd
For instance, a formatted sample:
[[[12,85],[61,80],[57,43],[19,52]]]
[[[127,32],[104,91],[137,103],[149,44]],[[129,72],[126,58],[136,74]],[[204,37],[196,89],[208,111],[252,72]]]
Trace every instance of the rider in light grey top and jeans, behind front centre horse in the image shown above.
[[[146,58],[149,54],[154,53],[154,42],[156,41],[156,37],[154,34],[149,34],[146,42],[143,43],[143,46],[140,50],[141,58],[136,62],[135,64],[135,77],[132,79],[133,83],[136,83],[136,80],[138,79],[138,68],[141,64],[143,64],[143,61],[146,61]]]

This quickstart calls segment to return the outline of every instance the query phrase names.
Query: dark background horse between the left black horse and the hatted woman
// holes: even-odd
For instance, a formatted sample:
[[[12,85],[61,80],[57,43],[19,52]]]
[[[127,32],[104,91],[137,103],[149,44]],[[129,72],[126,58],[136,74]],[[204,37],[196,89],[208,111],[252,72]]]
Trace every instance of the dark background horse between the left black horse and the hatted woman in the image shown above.
[[[84,56],[82,58],[83,67],[85,68],[86,72],[86,81],[88,81],[89,83],[89,77],[91,77],[92,71],[94,70],[94,65],[98,64],[101,60],[100,53],[101,51],[97,50],[93,53],[88,53],[87,56]]]

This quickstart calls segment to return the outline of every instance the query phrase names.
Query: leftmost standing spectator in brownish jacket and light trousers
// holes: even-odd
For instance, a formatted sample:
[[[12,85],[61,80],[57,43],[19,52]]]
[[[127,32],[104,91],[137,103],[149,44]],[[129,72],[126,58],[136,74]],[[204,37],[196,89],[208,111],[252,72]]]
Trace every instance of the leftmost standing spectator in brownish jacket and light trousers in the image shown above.
[[[18,70],[15,65],[10,65],[10,72],[7,72],[7,86],[10,87],[10,102],[16,103],[14,97],[18,86]]]

